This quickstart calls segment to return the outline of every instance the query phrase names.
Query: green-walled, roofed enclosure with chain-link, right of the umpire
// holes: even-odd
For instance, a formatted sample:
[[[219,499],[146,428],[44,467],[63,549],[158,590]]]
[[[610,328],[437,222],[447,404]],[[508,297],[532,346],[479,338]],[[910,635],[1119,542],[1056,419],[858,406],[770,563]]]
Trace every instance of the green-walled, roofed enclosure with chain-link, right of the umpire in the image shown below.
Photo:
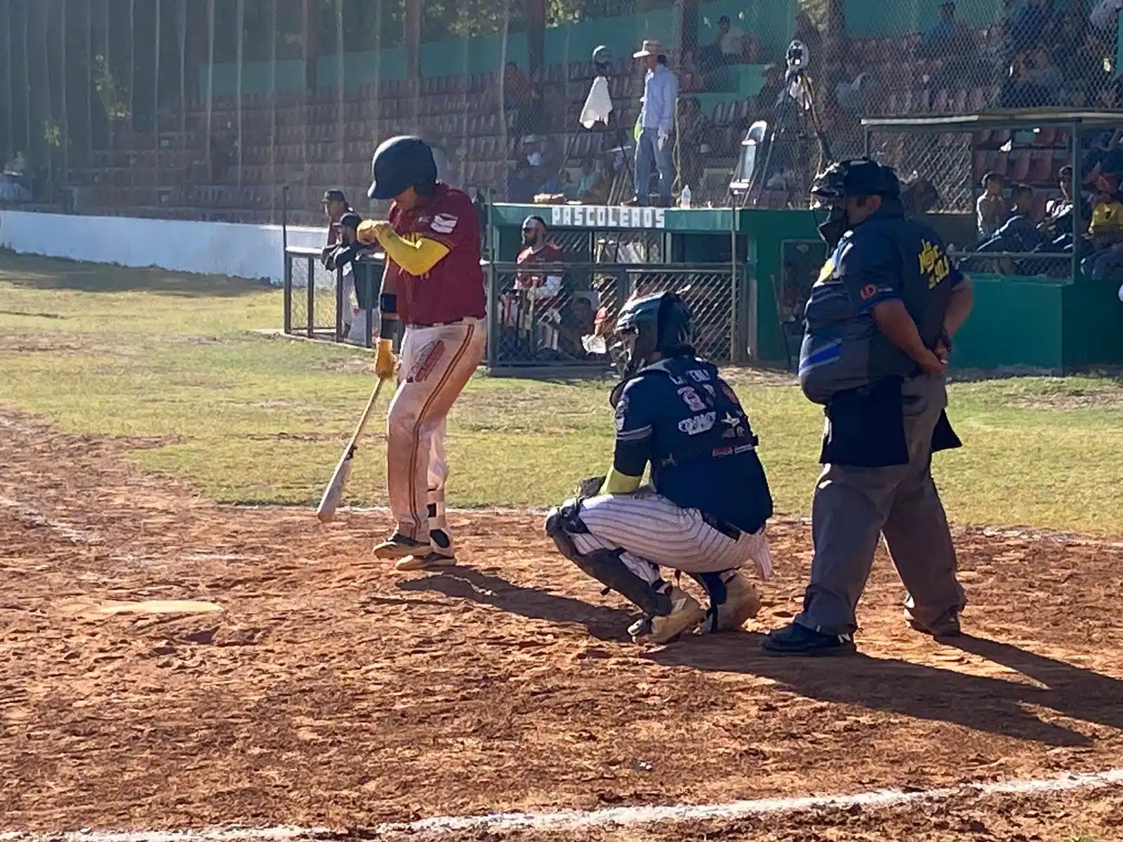
[[[1075,251],[962,250],[975,238],[975,199],[987,171],[1035,190],[1058,185],[1058,170],[1081,168],[1094,135],[1114,130],[1117,113],[1056,109],[999,110],[961,116],[867,118],[861,121],[866,154],[895,166],[902,176],[917,173],[942,195],[940,210],[925,214],[951,244],[975,282],[975,309],[956,336],[957,367],[1007,366],[1066,372],[1089,365],[1123,363],[1123,305],[1120,281],[1093,281],[1080,273]],[[1050,181],[1052,182],[1050,185]],[[1042,204],[1043,202],[1039,202]],[[1079,241],[1086,225],[1076,202],[1071,227]]]

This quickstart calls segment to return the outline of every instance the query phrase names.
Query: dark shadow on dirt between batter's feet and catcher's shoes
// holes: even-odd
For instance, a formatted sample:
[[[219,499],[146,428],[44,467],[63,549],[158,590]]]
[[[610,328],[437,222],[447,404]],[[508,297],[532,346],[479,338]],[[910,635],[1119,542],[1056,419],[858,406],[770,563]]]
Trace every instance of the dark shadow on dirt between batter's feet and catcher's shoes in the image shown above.
[[[403,591],[436,591],[454,600],[492,605],[511,614],[551,623],[581,623],[597,640],[629,640],[628,625],[636,615],[608,605],[558,596],[537,587],[513,585],[468,567],[450,567],[424,579],[398,583]]]

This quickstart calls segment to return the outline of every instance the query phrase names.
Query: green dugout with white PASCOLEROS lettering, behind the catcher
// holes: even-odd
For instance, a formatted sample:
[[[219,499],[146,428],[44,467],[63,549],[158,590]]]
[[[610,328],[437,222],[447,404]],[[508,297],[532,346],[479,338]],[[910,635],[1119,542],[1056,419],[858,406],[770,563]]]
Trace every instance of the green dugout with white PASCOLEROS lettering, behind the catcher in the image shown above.
[[[564,264],[517,265],[528,216],[549,226]],[[693,310],[701,355],[791,365],[801,295],[825,259],[810,211],[496,203],[487,232],[493,368],[605,364],[574,341],[586,308],[611,315],[629,295],[661,290]],[[559,292],[531,293],[535,276],[560,278]]]

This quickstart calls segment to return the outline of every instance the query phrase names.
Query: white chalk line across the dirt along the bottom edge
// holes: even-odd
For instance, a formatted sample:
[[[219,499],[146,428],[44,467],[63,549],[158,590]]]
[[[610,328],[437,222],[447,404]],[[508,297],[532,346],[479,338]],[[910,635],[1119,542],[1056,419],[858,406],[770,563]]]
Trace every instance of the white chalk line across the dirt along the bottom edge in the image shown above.
[[[610,807],[592,811],[556,813],[492,813],[476,816],[435,816],[416,822],[393,822],[365,830],[338,831],[328,827],[208,827],[180,831],[76,831],[71,833],[0,832],[0,842],[298,842],[299,840],[332,840],[350,836],[393,838],[401,835],[444,836],[466,830],[566,831],[583,827],[611,827],[641,824],[679,824],[683,822],[728,821],[750,816],[800,813],[810,809],[859,806],[884,809],[919,802],[950,800],[957,797],[995,795],[1042,795],[1077,789],[1105,789],[1123,785],[1123,768],[1104,772],[1080,772],[1043,780],[1012,780],[995,784],[968,784],[942,789],[902,791],[877,789],[869,793],[796,798],[758,798],[727,804],[681,806]]]

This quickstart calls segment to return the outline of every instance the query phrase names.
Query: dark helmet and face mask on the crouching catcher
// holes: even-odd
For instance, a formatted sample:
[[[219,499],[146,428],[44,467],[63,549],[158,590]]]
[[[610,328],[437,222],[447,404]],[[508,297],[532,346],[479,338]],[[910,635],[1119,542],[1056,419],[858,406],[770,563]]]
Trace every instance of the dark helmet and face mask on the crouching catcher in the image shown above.
[[[670,357],[693,353],[694,317],[683,300],[673,292],[657,292],[631,299],[617,317],[609,356],[621,381],[609,397],[613,406],[620,400],[624,384],[658,353]]]

